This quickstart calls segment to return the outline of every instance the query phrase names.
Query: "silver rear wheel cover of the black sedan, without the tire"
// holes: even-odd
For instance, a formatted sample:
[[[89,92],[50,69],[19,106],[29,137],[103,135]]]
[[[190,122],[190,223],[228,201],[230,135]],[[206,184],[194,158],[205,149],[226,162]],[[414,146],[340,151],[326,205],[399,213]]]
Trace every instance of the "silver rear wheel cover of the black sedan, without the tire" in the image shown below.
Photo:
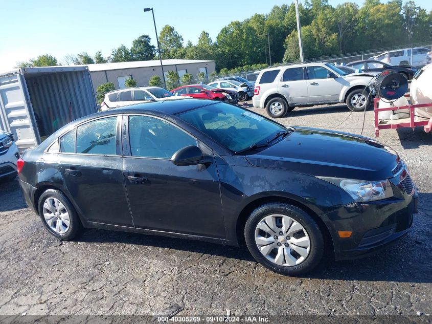
[[[63,203],[54,197],[49,197],[43,203],[43,218],[56,233],[64,234],[69,230],[71,219]]]

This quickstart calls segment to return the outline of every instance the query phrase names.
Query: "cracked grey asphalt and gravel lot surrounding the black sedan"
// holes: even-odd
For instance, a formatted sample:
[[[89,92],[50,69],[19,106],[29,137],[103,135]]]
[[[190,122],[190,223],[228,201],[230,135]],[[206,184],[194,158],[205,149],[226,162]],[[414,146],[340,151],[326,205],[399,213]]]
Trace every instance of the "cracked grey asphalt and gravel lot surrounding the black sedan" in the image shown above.
[[[345,105],[312,107],[279,121],[360,134],[363,113],[338,125],[348,115]],[[375,138],[372,111],[363,135]],[[0,315],[154,315],[174,303],[184,308],[178,315],[432,314],[432,136],[405,128],[378,140],[397,150],[417,183],[412,230],[390,250],[324,260],[303,277],[266,270],[246,248],[103,230],[60,242],[27,208],[17,181],[1,184]]]

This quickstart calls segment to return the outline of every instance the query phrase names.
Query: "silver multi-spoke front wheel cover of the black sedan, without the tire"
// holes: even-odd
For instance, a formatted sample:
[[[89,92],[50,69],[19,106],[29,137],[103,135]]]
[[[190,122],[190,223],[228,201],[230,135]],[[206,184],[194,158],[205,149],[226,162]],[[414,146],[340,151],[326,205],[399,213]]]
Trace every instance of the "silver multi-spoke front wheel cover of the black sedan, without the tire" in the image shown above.
[[[258,223],[255,242],[268,261],[284,267],[301,264],[311,247],[303,225],[282,214],[268,215]]]

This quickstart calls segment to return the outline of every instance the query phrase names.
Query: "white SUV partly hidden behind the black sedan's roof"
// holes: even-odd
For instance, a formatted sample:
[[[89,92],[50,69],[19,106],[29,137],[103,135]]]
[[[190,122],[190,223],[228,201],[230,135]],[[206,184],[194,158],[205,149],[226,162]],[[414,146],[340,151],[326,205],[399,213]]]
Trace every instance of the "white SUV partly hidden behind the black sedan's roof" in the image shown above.
[[[175,96],[173,93],[159,87],[135,87],[113,90],[105,94],[101,103],[101,111],[127,106],[133,103],[186,99],[191,97]]]

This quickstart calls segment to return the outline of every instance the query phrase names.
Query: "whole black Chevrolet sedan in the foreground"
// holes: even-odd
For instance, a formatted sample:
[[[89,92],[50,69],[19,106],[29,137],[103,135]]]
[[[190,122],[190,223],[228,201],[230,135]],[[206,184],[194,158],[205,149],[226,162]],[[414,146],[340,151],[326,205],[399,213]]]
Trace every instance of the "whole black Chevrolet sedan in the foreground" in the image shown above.
[[[224,102],[170,100],[90,115],[17,162],[44,227],[238,246],[296,275],[325,251],[365,256],[405,234],[417,190],[389,147],[366,137],[284,127]]]

